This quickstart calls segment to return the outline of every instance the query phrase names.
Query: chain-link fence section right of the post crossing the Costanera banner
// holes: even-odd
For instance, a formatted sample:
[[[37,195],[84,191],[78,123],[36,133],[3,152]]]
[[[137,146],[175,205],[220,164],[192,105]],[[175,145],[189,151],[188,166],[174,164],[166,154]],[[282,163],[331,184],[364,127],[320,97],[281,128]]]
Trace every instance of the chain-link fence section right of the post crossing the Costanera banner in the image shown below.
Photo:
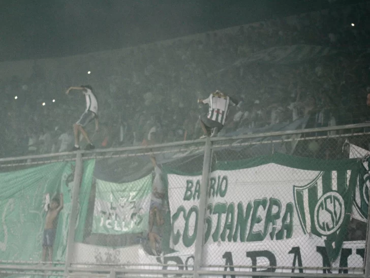
[[[352,129],[213,142],[203,267],[363,273],[368,195],[358,158],[369,139]]]

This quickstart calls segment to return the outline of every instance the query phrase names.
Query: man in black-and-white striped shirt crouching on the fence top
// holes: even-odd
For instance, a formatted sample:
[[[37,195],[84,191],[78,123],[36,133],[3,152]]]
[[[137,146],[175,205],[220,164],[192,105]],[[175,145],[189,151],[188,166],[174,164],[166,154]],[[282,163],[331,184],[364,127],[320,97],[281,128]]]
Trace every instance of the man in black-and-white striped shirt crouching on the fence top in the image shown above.
[[[224,95],[224,93],[219,90],[210,94],[205,100],[198,99],[198,103],[207,103],[209,105],[207,116],[200,116],[200,126],[204,133],[204,135],[200,137],[201,139],[209,135],[210,137],[216,137],[225,125],[229,105],[236,106],[238,104],[236,100]]]

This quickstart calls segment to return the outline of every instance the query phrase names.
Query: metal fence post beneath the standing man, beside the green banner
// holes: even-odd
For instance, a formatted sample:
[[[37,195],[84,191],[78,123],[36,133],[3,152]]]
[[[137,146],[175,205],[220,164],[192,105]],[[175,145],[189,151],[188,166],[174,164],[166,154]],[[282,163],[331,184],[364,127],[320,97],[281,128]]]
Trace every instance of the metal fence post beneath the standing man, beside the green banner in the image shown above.
[[[72,263],[72,256],[74,251],[74,239],[75,239],[75,228],[78,213],[78,198],[80,193],[81,179],[83,172],[83,162],[81,152],[77,152],[76,165],[73,182],[73,195],[72,195],[72,206],[71,215],[68,226],[68,238],[67,238],[67,251],[66,251],[66,270],[65,275],[68,276],[68,267]]]

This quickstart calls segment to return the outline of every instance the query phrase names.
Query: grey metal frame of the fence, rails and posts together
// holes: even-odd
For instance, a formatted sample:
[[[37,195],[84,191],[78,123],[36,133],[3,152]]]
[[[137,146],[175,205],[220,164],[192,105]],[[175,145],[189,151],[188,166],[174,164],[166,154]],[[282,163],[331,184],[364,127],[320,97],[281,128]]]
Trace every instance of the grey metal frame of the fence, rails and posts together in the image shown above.
[[[194,256],[194,264],[176,263],[176,265],[173,265],[169,264],[169,261],[167,261],[167,263],[164,263],[166,262],[166,260],[163,261],[162,259],[158,259],[158,263],[154,264],[145,262],[137,264],[128,262],[79,262],[78,260],[76,261],[74,255],[76,253],[76,248],[78,248],[77,242],[75,241],[75,228],[77,226],[79,217],[79,202],[81,197],[79,190],[81,180],[84,178],[84,161],[97,160],[104,163],[104,161],[107,161],[109,159],[112,160],[123,158],[130,160],[133,158],[144,158],[150,155],[161,155],[164,157],[164,164],[168,164],[169,168],[181,168],[183,165],[192,163],[196,164],[194,165],[194,168],[199,169],[200,172],[198,173],[198,176],[200,176],[200,198],[199,202],[196,204],[199,208],[197,221],[198,223],[206,223],[207,218],[209,220],[209,218],[211,217],[209,213],[207,214],[207,211],[209,210],[209,205],[212,204],[211,198],[207,196],[210,185],[209,180],[210,178],[212,178],[211,173],[213,173],[214,171],[222,171],[222,169],[219,168],[220,161],[227,162],[226,164],[230,165],[230,163],[238,160],[250,160],[266,155],[274,155],[274,153],[281,152],[283,147],[285,147],[287,144],[289,144],[289,146],[290,144],[292,146],[294,145],[294,147],[289,149],[289,151],[286,151],[286,153],[289,152],[289,154],[303,156],[305,158],[313,156],[316,159],[326,159],[328,161],[331,161],[333,160],[332,153],[340,150],[343,145],[342,141],[345,140],[349,142],[354,142],[355,144],[358,144],[358,142],[360,142],[363,146],[368,146],[368,144],[370,143],[370,125],[368,123],[365,123],[359,125],[337,126],[319,129],[251,134],[227,138],[206,138],[195,141],[183,141],[149,146],[109,148],[90,151],[51,153],[48,155],[24,156],[17,158],[2,158],[0,159],[0,170],[3,172],[34,167],[37,165],[50,164],[54,162],[73,162],[75,166],[73,173],[74,186],[71,195],[71,213],[68,219],[68,237],[66,244],[67,251],[65,253],[65,262],[61,261],[57,262],[57,264],[53,262],[53,266],[48,266],[41,264],[41,262],[39,261],[0,261],[0,273],[6,275],[23,274],[43,276],[52,274],[54,276],[71,277],[78,275],[87,275],[90,277],[154,277],[162,275],[181,275],[183,277],[221,277],[225,275],[231,275],[232,277],[370,277],[370,256],[366,256],[366,251],[368,250],[368,248],[370,248],[370,241],[367,238],[368,228],[366,230],[366,240],[364,245],[365,250],[363,251],[363,263],[361,263],[361,265],[358,264],[354,267],[348,267],[348,265],[343,264],[336,266],[333,264],[333,262],[330,262],[329,265],[324,266],[292,266],[282,264],[266,265],[266,262],[258,263],[257,259],[251,265],[250,263],[230,264],[230,262],[226,264],[207,263],[207,260],[205,260],[205,256],[210,257],[212,256],[212,254],[209,254],[209,251],[207,251],[206,254],[204,253],[205,249],[208,248],[207,246],[209,245],[204,237],[204,234],[207,232],[205,225],[197,225],[194,228],[197,232],[194,240],[194,250],[191,252],[191,254]],[[256,146],[258,146],[259,148],[256,148]],[[330,149],[330,151],[326,151],[327,149]],[[179,153],[182,154],[181,156],[178,156],[181,161],[177,162],[177,160],[174,160],[172,158],[174,157],[174,154],[176,155]],[[202,162],[200,158],[202,158]],[[336,158],[337,157],[335,156],[334,159]],[[197,162],[194,162],[195,160]],[[130,161],[128,161],[128,163],[130,164]],[[132,165],[130,165],[130,167],[131,166]],[[275,175],[276,178],[279,177],[277,174]],[[173,176],[174,178],[179,178],[178,176],[176,177],[174,174]],[[243,193],[241,192],[240,194],[242,195]],[[175,197],[178,197],[177,202],[181,202],[182,196]],[[266,209],[267,205],[265,206]],[[282,207],[280,206],[280,208]],[[92,212],[90,211],[90,213]],[[173,211],[171,213],[173,213]],[[258,211],[256,213],[258,213]],[[173,230],[174,227],[175,226],[172,223],[171,229]],[[222,244],[223,243],[221,243],[220,246],[222,246]],[[237,252],[240,252],[240,254],[242,253],[242,251]],[[243,256],[245,257],[245,251],[243,252]],[[170,256],[170,254],[166,256]],[[347,257],[347,259],[348,258],[349,257]],[[359,257],[357,256],[357,259],[358,258]],[[208,261],[212,260],[210,259]],[[262,269],[264,269],[263,272],[261,272]]]

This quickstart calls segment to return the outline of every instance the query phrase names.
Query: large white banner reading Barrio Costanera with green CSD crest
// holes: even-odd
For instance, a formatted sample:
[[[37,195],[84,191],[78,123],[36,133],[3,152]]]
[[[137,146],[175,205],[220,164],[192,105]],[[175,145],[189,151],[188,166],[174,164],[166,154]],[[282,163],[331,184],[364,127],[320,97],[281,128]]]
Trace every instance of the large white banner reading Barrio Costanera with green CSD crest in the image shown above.
[[[234,244],[241,249],[242,242],[268,241],[277,246],[284,244],[284,240],[313,234],[327,241],[330,260],[336,259],[350,219],[356,183],[353,177],[350,182],[351,170],[346,167],[307,170],[315,168],[307,161],[296,165],[306,169],[259,164],[211,173],[205,219],[206,250],[214,244],[221,250],[232,249]],[[339,164],[332,166],[335,169]],[[201,176],[168,174],[169,245],[175,251],[189,253],[194,248],[200,183]],[[302,244],[297,241],[296,246],[309,248]],[[211,261],[216,253],[210,251],[206,259]],[[245,258],[245,252],[242,253]]]

